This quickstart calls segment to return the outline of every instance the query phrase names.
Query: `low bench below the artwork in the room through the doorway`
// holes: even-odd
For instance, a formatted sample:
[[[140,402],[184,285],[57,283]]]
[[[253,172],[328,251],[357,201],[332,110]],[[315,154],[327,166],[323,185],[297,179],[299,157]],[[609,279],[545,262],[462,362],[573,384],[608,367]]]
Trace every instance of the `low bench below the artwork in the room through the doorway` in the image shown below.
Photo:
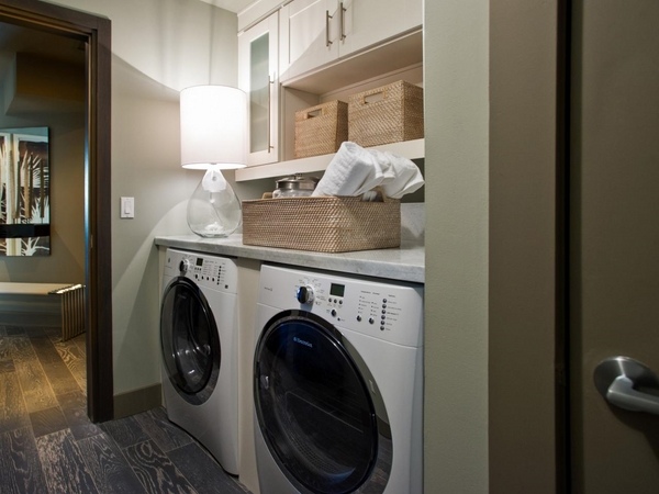
[[[60,297],[62,340],[85,333],[85,287],[70,283],[16,283],[0,282],[0,297],[11,296],[52,296]]]

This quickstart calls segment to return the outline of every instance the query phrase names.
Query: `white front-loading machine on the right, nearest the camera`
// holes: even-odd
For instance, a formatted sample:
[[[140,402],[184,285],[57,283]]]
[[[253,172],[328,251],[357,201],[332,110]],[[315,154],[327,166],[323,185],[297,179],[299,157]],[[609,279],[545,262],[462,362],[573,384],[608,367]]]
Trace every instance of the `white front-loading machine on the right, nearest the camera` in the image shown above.
[[[264,265],[261,494],[423,491],[423,287]]]

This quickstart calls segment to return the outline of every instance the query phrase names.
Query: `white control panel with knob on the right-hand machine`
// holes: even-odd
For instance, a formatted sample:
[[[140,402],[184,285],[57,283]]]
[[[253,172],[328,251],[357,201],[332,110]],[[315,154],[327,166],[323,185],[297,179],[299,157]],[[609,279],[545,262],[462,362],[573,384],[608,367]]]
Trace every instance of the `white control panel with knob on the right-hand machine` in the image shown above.
[[[259,302],[312,312],[347,328],[406,346],[423,339],[423,287],[263,266]]]

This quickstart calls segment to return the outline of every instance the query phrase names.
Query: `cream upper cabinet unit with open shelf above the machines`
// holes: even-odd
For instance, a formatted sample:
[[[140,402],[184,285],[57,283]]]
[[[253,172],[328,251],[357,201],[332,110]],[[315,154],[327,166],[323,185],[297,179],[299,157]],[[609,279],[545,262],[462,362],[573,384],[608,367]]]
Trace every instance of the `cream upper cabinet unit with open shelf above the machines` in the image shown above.
[[[404,79],[423,85],[423,0],[257,0],[238,14],[238,79],[249,96],[248,167],[236,180],[313,172],[295,159],[295,112]],[[388,146],[423,158],[424,143]]]

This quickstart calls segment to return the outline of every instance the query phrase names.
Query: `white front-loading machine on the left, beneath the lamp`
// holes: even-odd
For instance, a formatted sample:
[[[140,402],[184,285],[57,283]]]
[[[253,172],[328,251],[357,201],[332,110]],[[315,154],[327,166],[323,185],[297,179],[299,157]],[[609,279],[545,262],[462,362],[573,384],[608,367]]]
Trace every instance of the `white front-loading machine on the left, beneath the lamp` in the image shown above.
[[[238,474],[237,267],[168,249],[160,343],[167,417]]]

